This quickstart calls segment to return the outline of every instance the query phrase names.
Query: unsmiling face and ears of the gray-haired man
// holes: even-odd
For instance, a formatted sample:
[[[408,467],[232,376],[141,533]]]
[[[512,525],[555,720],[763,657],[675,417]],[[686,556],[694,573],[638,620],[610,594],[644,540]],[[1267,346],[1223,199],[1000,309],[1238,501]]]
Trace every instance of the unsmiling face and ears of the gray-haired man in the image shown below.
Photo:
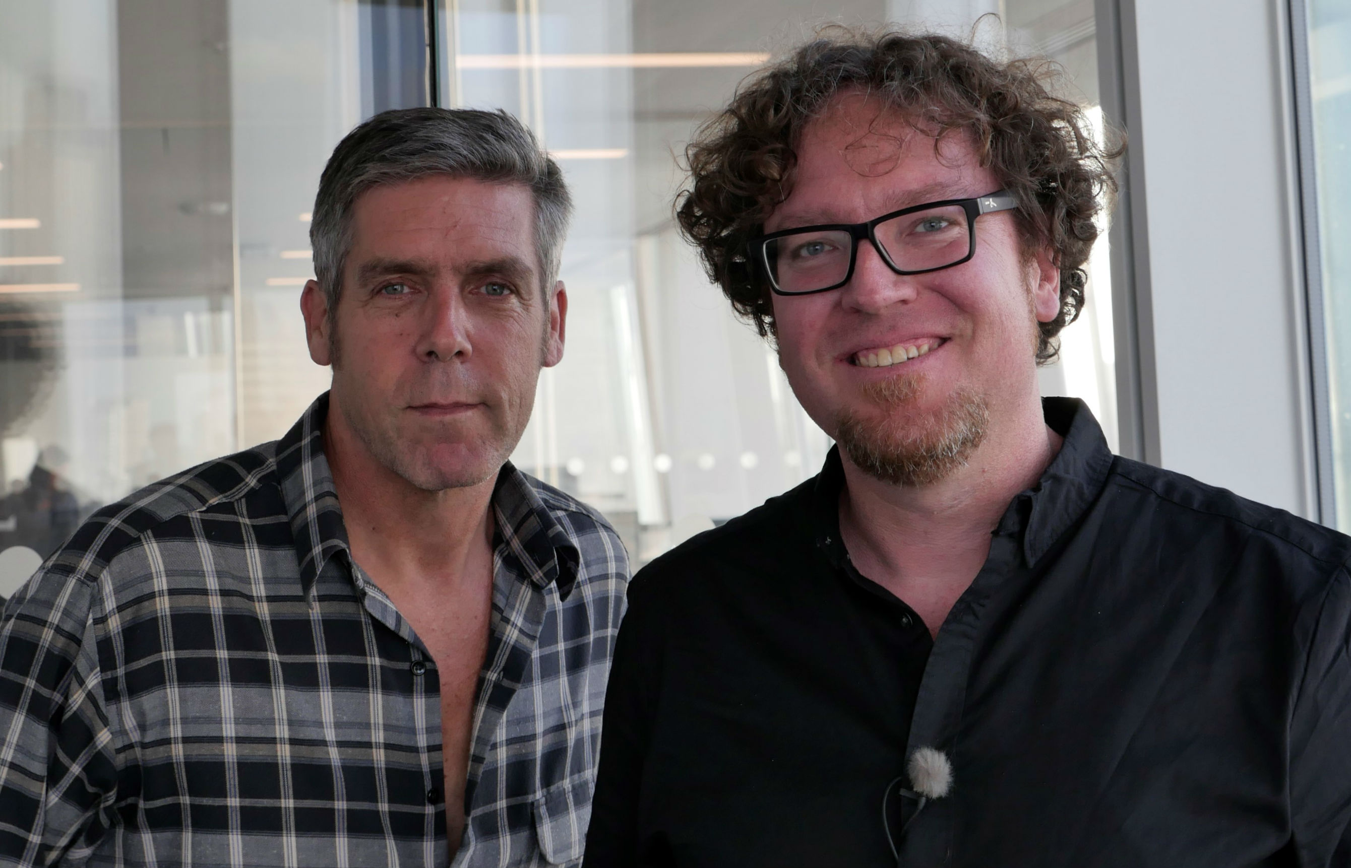
[[[540,292],[523,185],[434,175],[353,208],[334,316],[305,286],[309,352],[332,363],[330,425],[426,491],[497,474],[563,352],[562,283]]]

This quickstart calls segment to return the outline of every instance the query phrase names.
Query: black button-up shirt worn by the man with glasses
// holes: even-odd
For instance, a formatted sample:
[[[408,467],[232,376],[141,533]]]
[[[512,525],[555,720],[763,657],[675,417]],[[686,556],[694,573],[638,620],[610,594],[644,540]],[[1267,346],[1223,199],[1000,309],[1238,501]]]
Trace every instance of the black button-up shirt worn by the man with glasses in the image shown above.
[[[644,568],[585,865],[896,865],[888,826],[925,868],[1351,865],[1351,539],[1046,418],[935,641],[851,566],[835,454]],[[920,747],[950,794],[884,817]]]

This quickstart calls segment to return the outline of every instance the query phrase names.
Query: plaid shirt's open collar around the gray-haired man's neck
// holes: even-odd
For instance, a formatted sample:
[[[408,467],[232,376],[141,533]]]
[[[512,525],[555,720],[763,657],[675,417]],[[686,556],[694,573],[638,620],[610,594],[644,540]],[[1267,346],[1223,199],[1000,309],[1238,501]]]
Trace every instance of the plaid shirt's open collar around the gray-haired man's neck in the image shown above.
[[[277,478],[286,505],[286,517],[296,540],[300,583],[308,597],[334,552],[349,552],[332,471],[324,456],[324,421],[328,393],[315,398],[309,409],[277,441]],[[531,481],[511,462],[503,464],[493,489],[496,545],[505,545],[513,566],[535,585],[558,583],[566,598],[577,579],[581,555],[567,532],[554,520]]]

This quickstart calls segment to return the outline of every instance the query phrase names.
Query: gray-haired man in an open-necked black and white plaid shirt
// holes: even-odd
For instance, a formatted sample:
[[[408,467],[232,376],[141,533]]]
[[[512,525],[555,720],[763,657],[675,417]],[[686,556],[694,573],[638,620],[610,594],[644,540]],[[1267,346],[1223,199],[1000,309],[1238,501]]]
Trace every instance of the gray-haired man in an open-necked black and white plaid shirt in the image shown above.
[[[286,436],[97,512],[0,621],[0,865],[576,864],[627,580],[508,462],[570,201],[505,113],[377,115],[319,184]]]

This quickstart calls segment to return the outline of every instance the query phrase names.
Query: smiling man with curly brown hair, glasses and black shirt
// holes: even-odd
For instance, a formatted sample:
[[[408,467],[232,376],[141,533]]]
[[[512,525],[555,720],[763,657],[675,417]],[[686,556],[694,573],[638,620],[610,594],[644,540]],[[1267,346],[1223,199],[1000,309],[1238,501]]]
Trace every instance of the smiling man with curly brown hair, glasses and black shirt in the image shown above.
[[[1119,157],[1044,72],[828,35],[690,144],[838,448],[632,582],[588,868],[1351,864],[1351,540],[1039,396]]]

